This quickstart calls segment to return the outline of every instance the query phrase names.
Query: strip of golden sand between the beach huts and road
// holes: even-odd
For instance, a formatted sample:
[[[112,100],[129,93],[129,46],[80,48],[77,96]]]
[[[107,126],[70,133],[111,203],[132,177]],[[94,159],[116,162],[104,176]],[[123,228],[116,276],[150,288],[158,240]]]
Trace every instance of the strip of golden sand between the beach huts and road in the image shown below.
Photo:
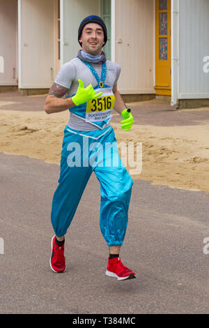
[[[1,152],[59,165],[68,111],[47,115],[0,110],[0,115]],[[111,125],[118,143],[142,143],[142,171],[131,174],[133,179],[209,193],[209,122],[172,127],[134,124],[128,133],[120,124]]]

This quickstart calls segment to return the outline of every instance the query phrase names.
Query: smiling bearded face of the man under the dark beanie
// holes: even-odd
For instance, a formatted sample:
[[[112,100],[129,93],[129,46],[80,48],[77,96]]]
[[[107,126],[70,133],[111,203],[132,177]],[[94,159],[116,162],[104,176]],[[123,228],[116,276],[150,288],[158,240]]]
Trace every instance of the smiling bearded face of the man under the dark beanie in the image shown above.
[[[101,54],[104,45],[104,31],[102,27],[96,23],[86,24],[79,42],[82,43],[82,50],[88,52],[88,54]]]

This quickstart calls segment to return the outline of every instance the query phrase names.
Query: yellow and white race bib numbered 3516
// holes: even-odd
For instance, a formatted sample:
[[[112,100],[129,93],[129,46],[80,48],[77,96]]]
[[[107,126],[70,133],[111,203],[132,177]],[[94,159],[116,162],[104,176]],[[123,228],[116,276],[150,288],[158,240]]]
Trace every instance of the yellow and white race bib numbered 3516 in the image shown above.
[[[86,105],[86,122],[98,122],[110,119],[114,109],[115,96],[111,88],[96,89],[95,93],[103,92],[100,98],[88,101]]]

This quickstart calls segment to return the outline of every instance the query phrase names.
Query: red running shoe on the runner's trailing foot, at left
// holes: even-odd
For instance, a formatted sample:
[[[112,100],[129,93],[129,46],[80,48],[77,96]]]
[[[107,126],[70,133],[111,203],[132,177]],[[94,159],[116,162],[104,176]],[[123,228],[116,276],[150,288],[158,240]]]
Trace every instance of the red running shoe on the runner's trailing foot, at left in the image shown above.
[[[58,246],[55,241],[55,237],[52,237],[51,246],[52,254],[49,260],[50,267],[54,272],[65,272],[65,256],[64,256],[64,244],[63,246]]]

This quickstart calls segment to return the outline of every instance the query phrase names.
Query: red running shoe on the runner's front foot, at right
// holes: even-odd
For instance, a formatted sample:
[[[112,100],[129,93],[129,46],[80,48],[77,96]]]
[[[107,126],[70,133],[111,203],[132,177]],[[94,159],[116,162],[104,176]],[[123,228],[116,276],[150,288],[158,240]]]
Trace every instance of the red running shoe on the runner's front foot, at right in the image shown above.
[[[136,274],[123,265],[121,258],[112,258],[111,260],[108,258],[106,274],[118,278],[118,280],[136,278]]]

